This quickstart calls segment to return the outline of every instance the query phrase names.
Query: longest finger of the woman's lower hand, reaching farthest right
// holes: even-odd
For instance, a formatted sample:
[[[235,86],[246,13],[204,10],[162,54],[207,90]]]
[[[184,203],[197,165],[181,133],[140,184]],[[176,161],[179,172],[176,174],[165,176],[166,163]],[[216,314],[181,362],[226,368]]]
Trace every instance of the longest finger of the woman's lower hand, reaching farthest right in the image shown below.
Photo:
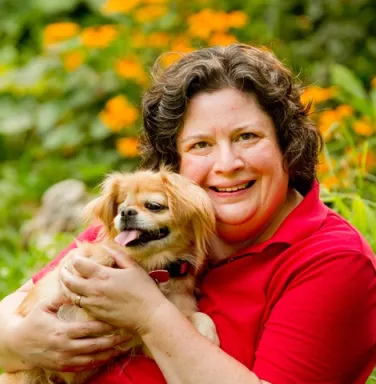
[[[77,339],[71,343],[75,355],[92,354],[122,345],[132,339],[132,335],[101,336],[91,339]]]

